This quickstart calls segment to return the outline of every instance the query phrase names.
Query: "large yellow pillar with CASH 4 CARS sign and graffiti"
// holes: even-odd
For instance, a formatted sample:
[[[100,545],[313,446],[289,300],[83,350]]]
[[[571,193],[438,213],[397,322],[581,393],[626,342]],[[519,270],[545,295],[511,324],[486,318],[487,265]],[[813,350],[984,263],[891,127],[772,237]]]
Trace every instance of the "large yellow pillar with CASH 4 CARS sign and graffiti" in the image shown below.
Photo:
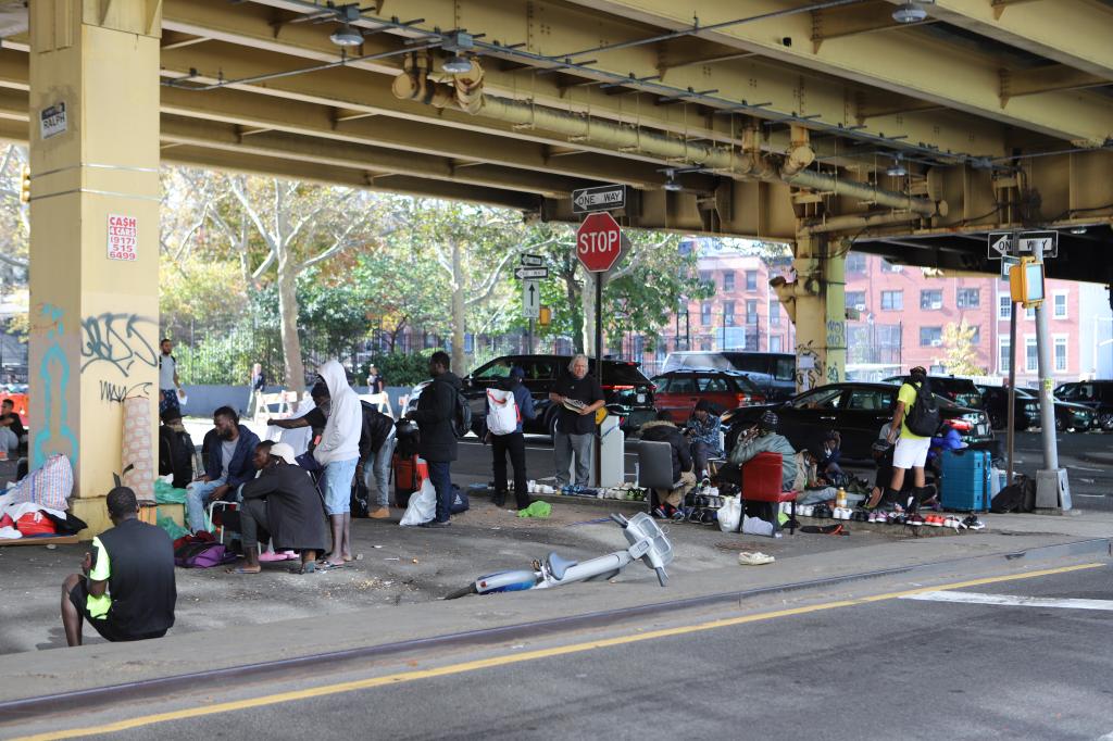
[[[110,524],[122,398],[157,419],[159,8],[30,3],[29,455],[69,456],[86,537]]]

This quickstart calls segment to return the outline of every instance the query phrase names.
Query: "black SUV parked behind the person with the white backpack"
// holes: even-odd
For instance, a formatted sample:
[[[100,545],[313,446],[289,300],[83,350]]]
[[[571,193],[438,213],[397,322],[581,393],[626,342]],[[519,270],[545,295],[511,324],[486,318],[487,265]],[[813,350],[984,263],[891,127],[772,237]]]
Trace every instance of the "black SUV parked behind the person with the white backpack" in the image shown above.
[[[523,421],[522,429],[525,433],[551,436],[556,424],[556,407],[549,401],[549,389],[571,362],[571,355],[503,355],[475,368],[461,379],[463,394],[472,406],[472,426],[477,428],[486,417],[486,391],[498,386],[499,382],[510,375],[512,367],[519,366],[525,372],[522,383],[533,395],[538,413],[536,419]],[[639,365],[627,360],[604,359],[603,377],[600,381],[608,413],[619,417],[619,424],[628,435],[657,415],[657,409],[653,408],[653,384],[638,369]],[[591,360],[590,373],[595,373],[594,359]],[[429,383],[425,381],[414,386],[406,404],[407,411],[416,408],[417,397]]]

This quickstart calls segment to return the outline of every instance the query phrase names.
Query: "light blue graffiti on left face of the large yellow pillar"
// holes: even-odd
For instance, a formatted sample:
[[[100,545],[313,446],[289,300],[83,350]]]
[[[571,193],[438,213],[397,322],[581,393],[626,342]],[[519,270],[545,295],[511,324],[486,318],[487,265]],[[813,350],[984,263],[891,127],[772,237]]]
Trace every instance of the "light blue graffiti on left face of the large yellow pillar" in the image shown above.
[[[78,441],[69,426],[69,401],[66,397],[70,383],[70,365],[61,347],[66,326],[62,310],[51,304],[42,307],[46,318],[48,345],[39,362],[39,377],[42,379],[43,427],[35,435],[31,445],[31,467],[42,466],[47,458],[61,453],[70,461],[77,460]],[[41,330],[36,327],[37,330]]]

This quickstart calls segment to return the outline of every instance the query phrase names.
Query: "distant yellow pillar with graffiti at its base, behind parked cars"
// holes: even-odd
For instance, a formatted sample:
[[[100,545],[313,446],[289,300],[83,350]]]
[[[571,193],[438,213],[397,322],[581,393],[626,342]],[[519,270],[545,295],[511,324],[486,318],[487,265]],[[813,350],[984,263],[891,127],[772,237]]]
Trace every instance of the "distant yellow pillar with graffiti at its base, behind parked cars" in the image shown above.
[[[826,235],[794,246],[796,281],[771,281],[796,327],[796,389],[846,379],[846,247]]]

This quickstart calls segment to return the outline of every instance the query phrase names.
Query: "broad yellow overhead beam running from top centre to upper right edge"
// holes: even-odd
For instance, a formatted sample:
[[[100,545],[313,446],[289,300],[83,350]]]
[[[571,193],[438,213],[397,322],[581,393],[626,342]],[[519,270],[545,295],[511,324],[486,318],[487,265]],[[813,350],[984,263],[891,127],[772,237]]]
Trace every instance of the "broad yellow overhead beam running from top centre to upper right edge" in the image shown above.
[[[690,28],[693,14],[702,26],[711,26],[735,20],[740,14],[756,16],[799,7],[788,0],[755,0],[746,4],[745,11],[736,3],[717,0],[695,0],[683,6],[673,0],[570,2],[666,29]],[[984,0],[968,0],[966,4],[978,2],[988,10]],[[1044,3],[1011,9],[1005,17],[1041,4]],[[1048,92],[1013,98],[1003,107],[999,65],[995,60],[968,53],[917,29],[830,39],[818,51],[807,42],[811,33],[809,14],[798,13],[703,31],[700,37],[755,51],[782,63],[798,65],[1082,145],[1095,146],[1113,136],[1113,102],[1107,99],[1078,92]],[[897,118],[903,119],[903,115]],[[971,131],[962,150],[978,152],[992,149],[992,144]]]

